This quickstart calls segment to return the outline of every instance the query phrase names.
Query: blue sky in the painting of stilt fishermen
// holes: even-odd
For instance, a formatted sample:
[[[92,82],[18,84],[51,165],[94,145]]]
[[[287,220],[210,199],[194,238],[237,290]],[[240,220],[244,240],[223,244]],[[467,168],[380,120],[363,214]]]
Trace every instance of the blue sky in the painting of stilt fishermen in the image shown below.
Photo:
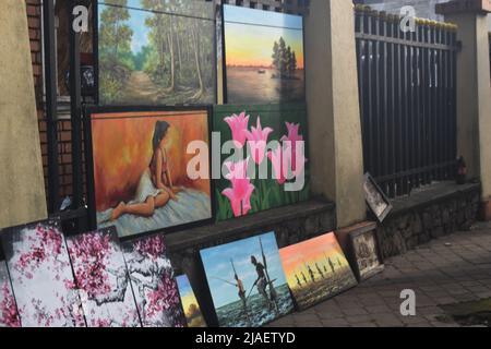
[[[270,277],[276,279],[275,286],[285,285],[286,278],[279,260],[279,252],[274,232],[263,234],[261,236],[261,239],[266,254]],[[230,260],[233,260],[237,274],[242,280],[246,291],[248,293],[250,292],[258,278],[255,267],[251,263],[251,255],[254,255],[258,261],[263,263],[259,237],[201,251],[206,278],[216,309],[239,300],[237,287],[216,279],[216,277],[218,277],[230,282],[235,280]],[[254,287],[251,294],[256,293],[258,289]]]

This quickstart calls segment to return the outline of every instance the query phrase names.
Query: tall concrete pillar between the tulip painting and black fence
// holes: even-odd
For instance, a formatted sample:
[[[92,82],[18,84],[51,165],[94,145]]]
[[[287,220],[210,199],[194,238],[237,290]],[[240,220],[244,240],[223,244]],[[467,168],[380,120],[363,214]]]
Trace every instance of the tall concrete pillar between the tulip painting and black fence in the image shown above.
[[[350,1],[312,0],[306,74],[312,190],[336,202],[338,227],[366,218],[358,77]]]

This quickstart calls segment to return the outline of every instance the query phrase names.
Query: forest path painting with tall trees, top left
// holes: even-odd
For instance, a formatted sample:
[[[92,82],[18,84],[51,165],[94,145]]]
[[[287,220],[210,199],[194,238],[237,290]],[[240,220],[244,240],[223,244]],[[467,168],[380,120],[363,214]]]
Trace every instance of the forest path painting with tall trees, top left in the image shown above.
[[[215,103],[214,4],[98,3],[99,105]]]

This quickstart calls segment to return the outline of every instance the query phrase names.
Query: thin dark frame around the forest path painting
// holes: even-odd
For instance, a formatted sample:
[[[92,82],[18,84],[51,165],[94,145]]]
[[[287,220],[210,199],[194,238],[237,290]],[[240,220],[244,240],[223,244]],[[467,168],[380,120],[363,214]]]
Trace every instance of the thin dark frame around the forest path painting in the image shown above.
[[[95,100],[95,105],[100,106],[100,98],[99,98],[99,0],[93,0],[94,5],[93,5],[93,17],[94,17],[94,23],[93,23],[93,57],[94,57],[94,100]],[[211,2],[209,0],[206,0],[206,2]],[[105,3],[101,3],[105,4]],[[216,39],[216,7],[212,3],[213,5],[213,19],[202,19],[202,21],[209,21],[213,22],[213,61],[214,64],[213,65],[213,89],[214,89],[214,100],[213,104],[217,104],[218,103],[218,84],[217,84],[217,76],[218,76],[218,67],[217,67],[217,39]],[[223,7],[221,7],[223,8]],[[177,15],[179,16],[179,14],[168,14],[168,15]],[[172,106],[200,106],[203,104],[176,104]],[[123,106],[123,105],[121,105]],[[169,105],[170,106],[170,105]],[[112,107],[112,105],[103,105],[100,107]],[[131,107],[131,106],[125,106],[124,107]],[[158,105],[145,105],[145,107],[157,107]]]

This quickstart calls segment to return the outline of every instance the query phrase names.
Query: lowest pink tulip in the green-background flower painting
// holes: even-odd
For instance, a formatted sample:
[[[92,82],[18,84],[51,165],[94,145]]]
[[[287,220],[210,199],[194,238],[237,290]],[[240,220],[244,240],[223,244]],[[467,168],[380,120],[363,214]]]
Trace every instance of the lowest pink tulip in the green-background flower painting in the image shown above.
[[[239,163],[225,163],[228,174],[225,176],[231,183],[231,188],[227,188],[221,192],[231,204],[233,216],[240,217],[247,215],[251,206],[251,195],[255,188],[247,176],[249,158]]]

